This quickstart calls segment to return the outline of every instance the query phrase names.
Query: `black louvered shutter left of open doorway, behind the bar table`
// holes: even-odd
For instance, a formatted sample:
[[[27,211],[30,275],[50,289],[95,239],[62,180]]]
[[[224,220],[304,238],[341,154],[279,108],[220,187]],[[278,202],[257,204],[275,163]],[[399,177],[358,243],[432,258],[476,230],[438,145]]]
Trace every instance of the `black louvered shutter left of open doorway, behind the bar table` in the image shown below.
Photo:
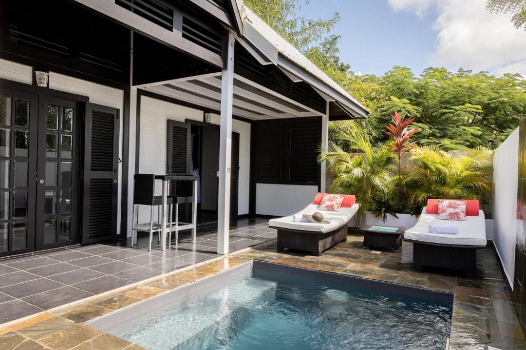
[[[168,120],[168,148],[166,173],[167,174],[191,174],[191,125],[189,123]],[[191,196],[192,188],[190,182],[171,182],[170,192],[172,196]],[[188,204],[181,203],[179,206],[179,221],[189,221]],[[175,219],[175,208],[173,211]]]

